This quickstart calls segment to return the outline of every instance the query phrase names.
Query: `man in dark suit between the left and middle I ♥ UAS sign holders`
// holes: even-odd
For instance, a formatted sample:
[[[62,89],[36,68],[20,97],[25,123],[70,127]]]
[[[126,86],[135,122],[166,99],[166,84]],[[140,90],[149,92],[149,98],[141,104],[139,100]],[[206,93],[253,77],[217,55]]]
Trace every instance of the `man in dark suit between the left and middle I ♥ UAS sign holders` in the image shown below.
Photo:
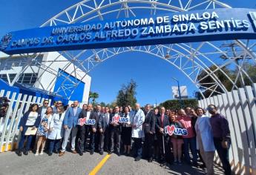
[[[103,155],[103,149],[105,148],[106,151],[108,150],[109,147],[109,136],[110,136],[110,131],[109,131],[109,118],[110,118],[110,113],[109,113],[109,108],[105,108],[105,113],[101,113],[99,116],[99,154]]]

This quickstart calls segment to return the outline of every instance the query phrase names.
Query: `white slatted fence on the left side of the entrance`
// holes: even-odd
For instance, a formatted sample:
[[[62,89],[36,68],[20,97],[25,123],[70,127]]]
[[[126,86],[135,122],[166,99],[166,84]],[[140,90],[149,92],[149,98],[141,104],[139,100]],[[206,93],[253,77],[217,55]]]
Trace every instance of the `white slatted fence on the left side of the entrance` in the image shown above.
[[[27,96],[22,93],[12,93],[1,90],[0,96],[7,96],[10,105],[6,117],[0,119],[0,152],[8,151],[13,148],[19,135],[18,125],[24,111],[27,111],[31,104],[42,105],[45,100],[41,97]],[[50,100],[49,100],[50,101]]]

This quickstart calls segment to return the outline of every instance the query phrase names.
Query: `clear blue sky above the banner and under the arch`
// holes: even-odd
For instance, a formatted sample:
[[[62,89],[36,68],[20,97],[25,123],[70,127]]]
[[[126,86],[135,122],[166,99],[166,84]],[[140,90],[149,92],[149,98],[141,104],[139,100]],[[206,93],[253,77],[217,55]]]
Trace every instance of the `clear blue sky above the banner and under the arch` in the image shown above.
[[[232,7],[256,8],[255,0],[222,0]],[[14,30],[39,27],[78,0],[0,0],[0,37]],[[172,99],[171,86],[188,87],[188,96],[194,96],[197,87],[180,70],[163,59],[146,53],[128,52],[99,64],[89,73],[91,91],[99,93],[96,102],[110,103],[123,84],[131,79],[137,82],[137,101],[141,105],[159,104]]]

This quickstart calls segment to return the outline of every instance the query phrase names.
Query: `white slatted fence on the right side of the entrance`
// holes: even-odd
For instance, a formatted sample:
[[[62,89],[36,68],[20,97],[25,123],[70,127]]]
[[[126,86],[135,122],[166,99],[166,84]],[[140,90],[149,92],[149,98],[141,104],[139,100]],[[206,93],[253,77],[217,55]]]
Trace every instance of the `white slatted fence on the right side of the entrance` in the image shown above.
[[[220,113],[227,117],[232,137],[229,159],[236,174],[256,174],[255,87],[256,84],[198,101],[202,108],[216,105]]]

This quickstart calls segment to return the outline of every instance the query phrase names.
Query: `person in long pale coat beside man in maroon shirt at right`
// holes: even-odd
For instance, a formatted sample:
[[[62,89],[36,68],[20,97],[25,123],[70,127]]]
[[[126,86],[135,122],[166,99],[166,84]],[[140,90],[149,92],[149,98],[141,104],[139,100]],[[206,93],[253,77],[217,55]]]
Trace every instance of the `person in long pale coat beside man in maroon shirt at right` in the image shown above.
[[[197,149],[200,151],[203,161],[206,162],[207,174],[214,174],[214,141],[211,130],[210,117],[205,115],[203,108],[197,108]]]

